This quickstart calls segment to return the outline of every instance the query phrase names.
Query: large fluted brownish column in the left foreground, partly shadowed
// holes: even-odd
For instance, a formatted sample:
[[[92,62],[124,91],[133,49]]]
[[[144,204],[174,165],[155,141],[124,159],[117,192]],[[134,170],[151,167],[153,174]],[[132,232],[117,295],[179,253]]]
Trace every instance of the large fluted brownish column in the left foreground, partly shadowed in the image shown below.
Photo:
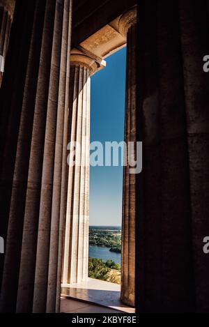
[[[0,91],[1,312],[59,312],[72,1],[17,1]]]

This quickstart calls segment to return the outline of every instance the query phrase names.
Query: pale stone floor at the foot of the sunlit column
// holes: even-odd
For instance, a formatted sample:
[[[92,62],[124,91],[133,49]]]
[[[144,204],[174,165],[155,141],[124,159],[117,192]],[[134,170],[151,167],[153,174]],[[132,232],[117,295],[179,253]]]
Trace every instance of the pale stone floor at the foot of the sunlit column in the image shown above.
[[[101,280],[93,280],[88,278],[88,281],[82,284],[63,284],[61,296],[61,310],[65,310],[65,312],[72,312],[73,310],[97,310],[94,313],[99,312],[98,310],[104,310],[102,312],[109,313],[111,313],[110,310],[114,310],[113,312],[135,312],[134,308],[128,307],[121,303],[120,285],[104,282]],[[70,305],[70,302],[68,304],[68,301],[74,301],[71,302],[73,309]],[[98,305],[100,306],[100,309]],[[101,307],[103,307],[103,309]],[[77,313],[77,311],[75,313]]]

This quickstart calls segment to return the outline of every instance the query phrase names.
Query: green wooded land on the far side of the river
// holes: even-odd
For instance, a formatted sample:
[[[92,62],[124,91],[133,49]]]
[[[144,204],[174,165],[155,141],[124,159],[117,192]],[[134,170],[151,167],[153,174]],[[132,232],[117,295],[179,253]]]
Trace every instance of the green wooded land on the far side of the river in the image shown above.
[[[108,228],[90,227],[89,244],[109,248],[111,252],[121,253],[121,229],[116,227]]]

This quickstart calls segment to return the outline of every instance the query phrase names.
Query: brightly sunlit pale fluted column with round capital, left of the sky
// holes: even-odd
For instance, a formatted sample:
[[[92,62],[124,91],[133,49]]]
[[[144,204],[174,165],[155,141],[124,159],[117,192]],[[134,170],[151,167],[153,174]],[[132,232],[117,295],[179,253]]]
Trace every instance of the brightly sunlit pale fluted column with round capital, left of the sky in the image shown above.
[[[72,121],[69,126],[71,146],[68,147],[70,155],[63,284],[81,283],[88,277],[90,77],[103,64],[77,50],[70,57]],[[75,142],[77,147],[73,148]]]

